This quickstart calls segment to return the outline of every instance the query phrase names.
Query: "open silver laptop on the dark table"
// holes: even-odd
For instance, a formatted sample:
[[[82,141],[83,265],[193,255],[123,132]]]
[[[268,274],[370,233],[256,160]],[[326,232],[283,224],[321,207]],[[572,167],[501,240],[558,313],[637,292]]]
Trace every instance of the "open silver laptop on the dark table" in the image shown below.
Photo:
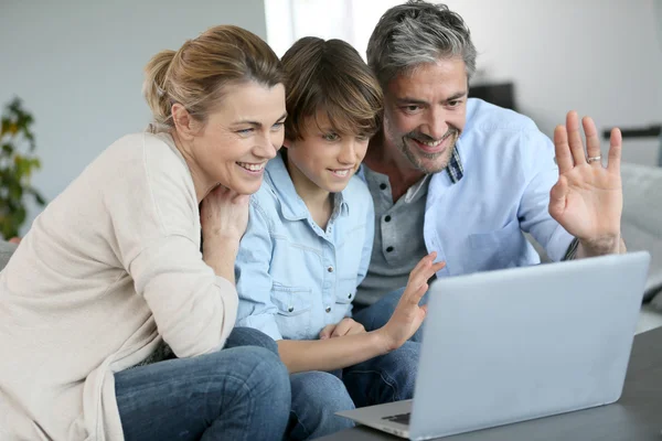
[[[427,440],[620,398],[645,251],[438,279],[413,400],[338,412]]]

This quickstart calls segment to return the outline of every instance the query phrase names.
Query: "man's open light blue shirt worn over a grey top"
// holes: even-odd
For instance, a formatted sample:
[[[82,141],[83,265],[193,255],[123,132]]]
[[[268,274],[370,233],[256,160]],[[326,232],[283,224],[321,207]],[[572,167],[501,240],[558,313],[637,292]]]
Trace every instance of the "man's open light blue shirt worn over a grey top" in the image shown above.
[[[574,237],[548,212],[552,141],[530,118],[472,98],[457,149],[462,178],[435,173],[426,198],[425,244],[446,261],[437,277],[540,263],[522,232],[560,260]]]

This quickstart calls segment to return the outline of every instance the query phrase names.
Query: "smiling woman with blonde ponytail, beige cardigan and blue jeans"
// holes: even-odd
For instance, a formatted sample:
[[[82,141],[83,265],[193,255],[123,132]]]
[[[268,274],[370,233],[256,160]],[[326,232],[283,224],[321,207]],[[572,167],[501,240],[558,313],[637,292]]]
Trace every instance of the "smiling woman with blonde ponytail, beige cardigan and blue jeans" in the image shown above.
[[[248,195],[282,143],[279,61],[254,34],[217,26],[146,73],[149,132],[103,152],[0,275],[1,439],[285,430],[289,380],[275,347],[218,352],[235,323]],[[162,361],[163,342],[177,358]]]

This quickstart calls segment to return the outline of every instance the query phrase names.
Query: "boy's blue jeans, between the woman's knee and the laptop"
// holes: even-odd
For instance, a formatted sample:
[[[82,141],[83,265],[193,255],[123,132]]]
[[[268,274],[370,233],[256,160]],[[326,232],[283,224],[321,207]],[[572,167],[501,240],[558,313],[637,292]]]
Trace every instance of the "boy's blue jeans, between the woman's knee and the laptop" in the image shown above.
[[[352,420],[334,415],[337,411],[412,398],[419,347],[407,342],[386,355],[337,372],[290,375],[292,404],[286,438],[302,441],[324,437],[354,426]]]

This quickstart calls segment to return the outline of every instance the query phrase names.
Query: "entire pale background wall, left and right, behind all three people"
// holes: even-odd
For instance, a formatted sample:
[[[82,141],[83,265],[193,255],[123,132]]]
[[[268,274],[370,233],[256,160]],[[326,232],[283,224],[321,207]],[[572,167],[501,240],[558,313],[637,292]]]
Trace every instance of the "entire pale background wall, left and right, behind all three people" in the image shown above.
[[[269,20],[278,54],[302,36],[289,28],[296,20],[306,33],[346,39],[364,54],[380,15],[401,0],[266,2],[279,11]],[[290,14],[297,2],[310,15]],[[545,133],[570,108],[599,128],[662,121],[662,0],[447,2],[471,28],[483,77],[513,80],[521,110]],[[0,103],[18,95],[36,118],[43,169],[34,184],[52,200],[116,138],[145,127],[142,67],[153,53],[221,23],[266,37],[263,3],[2,0]],[[629,142],[623,157],[651,162],[655,148]]]

